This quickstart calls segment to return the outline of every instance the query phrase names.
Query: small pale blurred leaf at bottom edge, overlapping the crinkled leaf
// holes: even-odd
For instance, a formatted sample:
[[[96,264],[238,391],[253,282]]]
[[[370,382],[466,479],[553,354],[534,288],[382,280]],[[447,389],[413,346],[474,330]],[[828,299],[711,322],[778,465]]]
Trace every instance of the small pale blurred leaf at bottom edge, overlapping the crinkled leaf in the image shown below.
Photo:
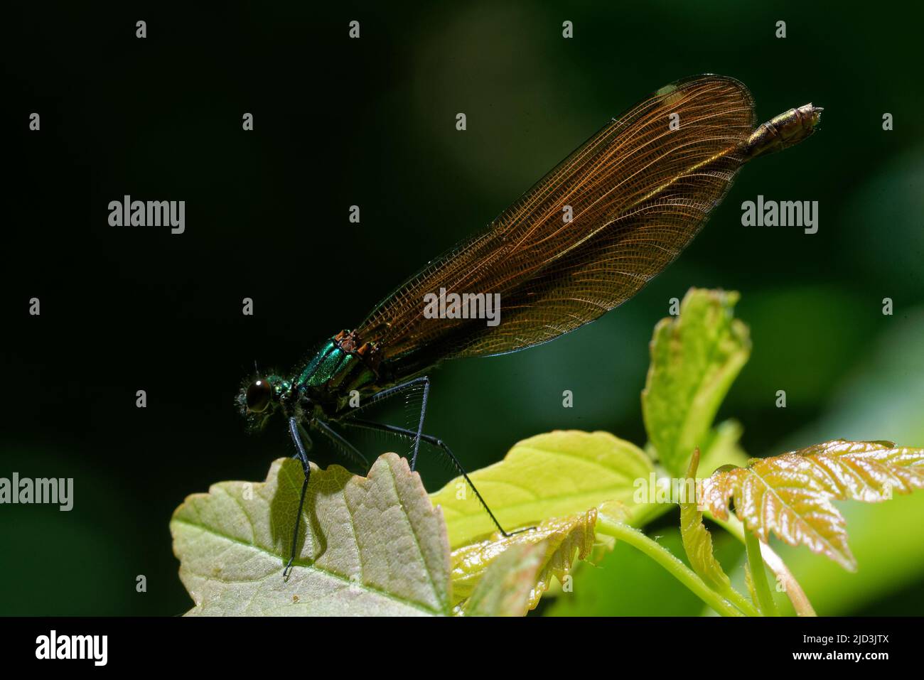
[[[524,616],[536,585],[545,544],[512,545],[490,565],[461,606],[466,616]]]

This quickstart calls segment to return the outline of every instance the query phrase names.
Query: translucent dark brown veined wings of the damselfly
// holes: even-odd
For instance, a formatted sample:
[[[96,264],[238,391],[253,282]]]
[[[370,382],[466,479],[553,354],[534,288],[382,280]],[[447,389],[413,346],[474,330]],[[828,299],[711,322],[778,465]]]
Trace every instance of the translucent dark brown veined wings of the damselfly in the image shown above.
[[[408,279],[359,337],[377,342],[384,359],[424,346],[443,358],[478,357],[597,319],[696,236],[743,163],[740,147],[755,124],[750,92],[735,79],[701,76],[662,88],[604,126],[486,232]],[[425,318],[424,296],[441,288],[499,293],[500,324]]]

